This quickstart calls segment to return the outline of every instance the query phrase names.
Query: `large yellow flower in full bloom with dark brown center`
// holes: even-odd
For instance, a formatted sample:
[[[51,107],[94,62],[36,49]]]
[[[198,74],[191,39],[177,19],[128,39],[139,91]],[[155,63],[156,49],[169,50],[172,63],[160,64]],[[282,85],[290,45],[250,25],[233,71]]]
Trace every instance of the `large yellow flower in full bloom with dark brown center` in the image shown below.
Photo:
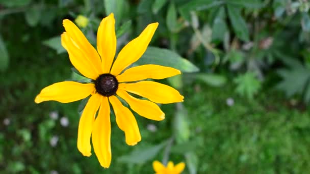
[[[54,83],[45,87],[35,98],[35,102],[55,100],[68,103],[91,95],[80,118],[77,149],[84,156],[90,156],[90,138],[92,138],[94,152],[101,166],[109,167],[111,163],[110,104],[118,127],[125,133],[126,143],[133,146],[141,140],[140,131],[132,111],[123,106],[119,98],[126,101],[131,109],[142,117],[163,120],[165,113],[156,103],[182,102],[184,97],[168,85],[140,80],[167,78],[180,74],[180,71],[159,65],[142,65],[126,69],[138,61],[145,52],[156,31],[157,22],[147,25],[140,36],[125,45],[114,63],[116,35],[113,13],[102,19],[99,25],[97,51],[73,22],[65,19],[63,25],[66,32],[61,35],[61,41],[68,51],[70,61],[81,74],[92,79],[92,83],[74,81]],[[150,101],[135,98],[128,92]],[[96,116],[97,110],[99,111]]]

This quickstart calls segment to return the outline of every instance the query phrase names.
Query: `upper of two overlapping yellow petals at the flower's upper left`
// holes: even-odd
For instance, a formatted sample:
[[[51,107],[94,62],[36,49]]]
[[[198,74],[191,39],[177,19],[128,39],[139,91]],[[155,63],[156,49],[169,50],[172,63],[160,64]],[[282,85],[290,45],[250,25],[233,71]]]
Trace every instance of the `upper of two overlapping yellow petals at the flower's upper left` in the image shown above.
[[[79,48],[86,59],[92,63],[94,71],[96,71],[97,74],[102,74],[100,56],[96,49],[88,42],[79,27],[68,19],[63,20],[63,25],[68,36],[73,40],[75,46]]]

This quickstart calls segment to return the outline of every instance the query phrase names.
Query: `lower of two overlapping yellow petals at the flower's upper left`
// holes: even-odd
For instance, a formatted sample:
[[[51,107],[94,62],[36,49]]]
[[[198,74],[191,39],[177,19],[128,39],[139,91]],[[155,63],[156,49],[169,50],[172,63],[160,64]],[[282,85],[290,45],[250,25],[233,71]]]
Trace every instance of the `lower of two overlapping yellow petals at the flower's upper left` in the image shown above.
[[[62,46],[68,51],[69,59],[71,64],[79,70],[85,77],[96,79],[102,70],[99,72],[96,70],[96,66],[87,57],[89,55],[85,54],[82,49],[73,41],[68,33],[64,32],[61,35]],[[100,63],[101,65],[101,63]],[[102,73],[101,73],[102,74]]]

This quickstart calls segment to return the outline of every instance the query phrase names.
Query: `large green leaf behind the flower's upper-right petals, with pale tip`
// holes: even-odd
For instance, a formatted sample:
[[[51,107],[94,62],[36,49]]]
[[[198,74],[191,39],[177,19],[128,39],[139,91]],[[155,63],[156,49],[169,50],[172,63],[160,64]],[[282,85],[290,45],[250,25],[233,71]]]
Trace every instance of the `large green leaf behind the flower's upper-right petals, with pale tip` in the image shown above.
[[[148,47],[138,65],[155,64],[178,69],[182,72],[198,72],[199,69],[177,53],[164,48]]]

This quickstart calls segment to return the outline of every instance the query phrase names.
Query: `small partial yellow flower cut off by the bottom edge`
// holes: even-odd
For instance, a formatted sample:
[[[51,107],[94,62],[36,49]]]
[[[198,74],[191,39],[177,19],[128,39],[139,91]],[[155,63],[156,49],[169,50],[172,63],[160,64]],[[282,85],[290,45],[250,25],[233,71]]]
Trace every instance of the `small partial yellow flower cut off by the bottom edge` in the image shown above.
[[[174,166],[172,161],[169,161],[167,167],[165,167],[161,162],[154,161],[153,169],[156,171],[156,174],[179,174],[185,168],[185,163],[180,162]]]

